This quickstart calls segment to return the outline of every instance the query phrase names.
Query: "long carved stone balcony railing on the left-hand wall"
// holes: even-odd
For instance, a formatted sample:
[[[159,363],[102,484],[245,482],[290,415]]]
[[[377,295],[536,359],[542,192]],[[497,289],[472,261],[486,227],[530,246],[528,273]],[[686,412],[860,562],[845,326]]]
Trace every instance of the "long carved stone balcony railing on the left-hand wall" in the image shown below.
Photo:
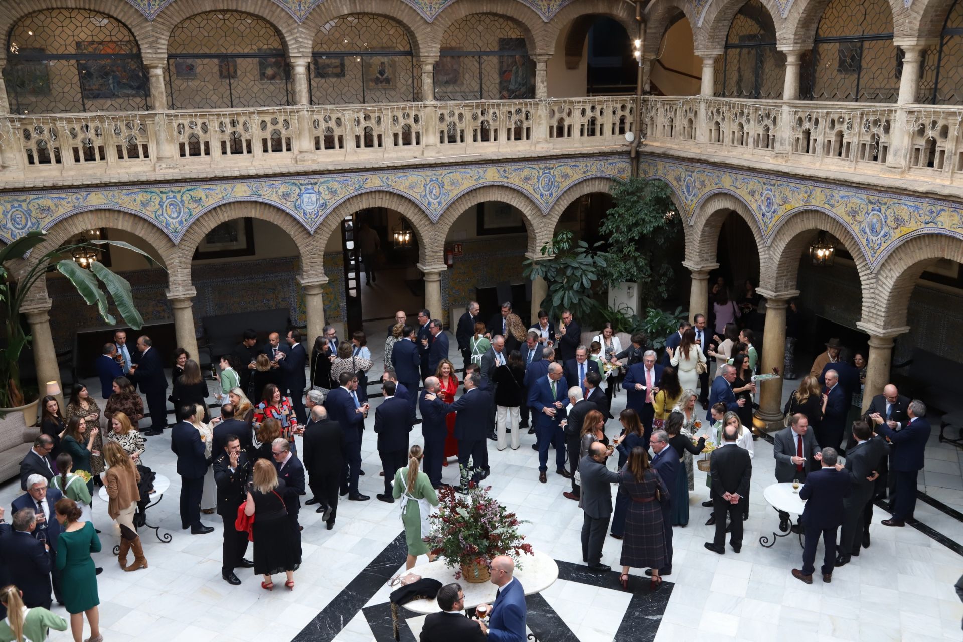
[[[391,163],[625,145],[632,96],[0,116],[4,182]]]

